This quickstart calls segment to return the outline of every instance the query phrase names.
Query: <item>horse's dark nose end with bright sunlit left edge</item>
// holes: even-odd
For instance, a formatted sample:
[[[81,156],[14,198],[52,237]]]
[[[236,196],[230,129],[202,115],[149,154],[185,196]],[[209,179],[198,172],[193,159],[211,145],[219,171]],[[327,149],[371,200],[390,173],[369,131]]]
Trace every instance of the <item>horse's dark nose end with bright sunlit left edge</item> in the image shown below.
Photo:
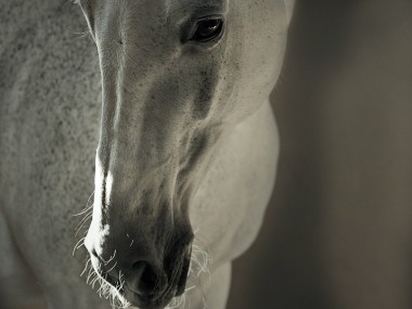
[[[90,233],[85,246],[94,271],[132,306],[154,308],[184,293],[194,237],[191,230],[157,243],[128,233],[123,239],[114,235]]]

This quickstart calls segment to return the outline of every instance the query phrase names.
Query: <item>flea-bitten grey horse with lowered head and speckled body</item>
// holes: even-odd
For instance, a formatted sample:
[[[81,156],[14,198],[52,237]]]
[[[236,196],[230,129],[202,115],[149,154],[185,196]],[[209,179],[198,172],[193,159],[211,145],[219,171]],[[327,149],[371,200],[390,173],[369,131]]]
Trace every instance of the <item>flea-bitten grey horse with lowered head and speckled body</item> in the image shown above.
[[[274,184],[293,1],[7,2],[1,307],[224,308]]]

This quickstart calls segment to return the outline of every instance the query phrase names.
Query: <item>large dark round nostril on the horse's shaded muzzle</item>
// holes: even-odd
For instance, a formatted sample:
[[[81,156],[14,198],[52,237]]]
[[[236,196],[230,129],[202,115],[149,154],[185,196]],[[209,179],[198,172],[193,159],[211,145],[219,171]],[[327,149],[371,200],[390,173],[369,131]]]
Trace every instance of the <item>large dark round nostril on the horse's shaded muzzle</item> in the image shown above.
[[[132,266],[131,282],[128,287],[140,296],[159,296],[166,288],[167,279],[163,271],[156,270],[146,261],[137,261]]]

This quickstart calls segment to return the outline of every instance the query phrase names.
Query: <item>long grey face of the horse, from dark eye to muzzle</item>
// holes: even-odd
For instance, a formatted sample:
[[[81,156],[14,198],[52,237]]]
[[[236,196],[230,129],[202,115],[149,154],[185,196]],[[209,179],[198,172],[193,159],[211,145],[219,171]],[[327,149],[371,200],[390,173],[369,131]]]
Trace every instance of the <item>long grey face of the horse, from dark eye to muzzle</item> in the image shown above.
[[[184,292],[190,202],[214,149],[278,79],[284,1],[80,0],[103,87],[93,267],[141,308]]]

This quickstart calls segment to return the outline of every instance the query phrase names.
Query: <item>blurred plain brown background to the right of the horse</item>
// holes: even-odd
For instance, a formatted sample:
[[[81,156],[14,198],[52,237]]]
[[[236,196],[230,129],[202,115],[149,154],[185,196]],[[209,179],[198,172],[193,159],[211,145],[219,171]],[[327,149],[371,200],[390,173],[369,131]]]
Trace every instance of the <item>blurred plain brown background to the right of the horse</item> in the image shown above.
[[[282,151],[229,309],[412,308],[412,1],[297,1]]]

